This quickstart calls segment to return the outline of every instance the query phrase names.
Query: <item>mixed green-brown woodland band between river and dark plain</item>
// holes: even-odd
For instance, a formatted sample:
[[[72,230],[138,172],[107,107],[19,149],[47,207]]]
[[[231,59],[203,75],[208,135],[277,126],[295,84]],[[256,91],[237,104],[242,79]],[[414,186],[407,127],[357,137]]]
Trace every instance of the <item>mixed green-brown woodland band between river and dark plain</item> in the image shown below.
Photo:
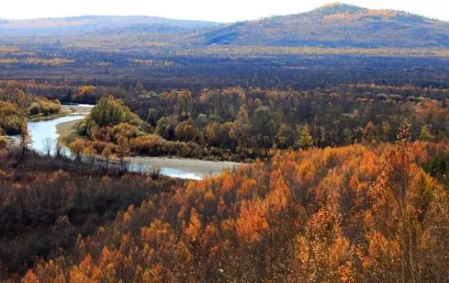
[[[72,99],[97,100],[105,92],[83,87]],[[130,92],[116,94],[128,107],[110,96],[99,100],[79,125],[79,134],[91,141],[86,146],[101,153],[123,136],[136,155],[245,160],[272,156],[276,149],[394,141],[406,119],[413,140],[445,141],[449,134],[444,89],[342,85],[312,91],[156,93],[138,87]]]

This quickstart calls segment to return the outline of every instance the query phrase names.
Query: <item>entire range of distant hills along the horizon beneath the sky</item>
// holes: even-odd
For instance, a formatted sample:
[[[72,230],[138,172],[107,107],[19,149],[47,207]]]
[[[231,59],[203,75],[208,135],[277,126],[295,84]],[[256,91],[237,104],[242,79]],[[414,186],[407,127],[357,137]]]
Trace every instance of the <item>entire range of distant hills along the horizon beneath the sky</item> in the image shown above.
[[[142,35],[145,33],[147,36]],[[86,36],[88,34],[94,37]],[[335,3],[307,13],[226,25],[147,16],[0,20],[0,39],[1,36],[46,36],[46,39],[69,36],[74,41],[89,42],[100,38],[114,41],[116,36],[121,36],[122,41],[133,41],[131,45],[146,41],[170,46],[449,48],[449,22],[401,11],[370,10]]]

